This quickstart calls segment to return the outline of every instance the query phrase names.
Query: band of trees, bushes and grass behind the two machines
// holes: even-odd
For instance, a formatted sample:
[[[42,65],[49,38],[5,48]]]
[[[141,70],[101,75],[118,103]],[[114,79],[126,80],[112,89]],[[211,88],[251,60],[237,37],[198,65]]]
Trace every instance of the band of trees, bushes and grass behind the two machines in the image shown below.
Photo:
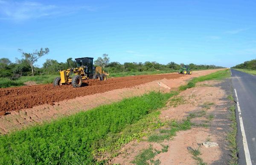
[[[67,62],[46,59],[42,67],[35,65],[38,58],[49,53],[48,48],[45,48],[45,50],[41,48],[40,51],[36,50],[32,53],[23,52],[21,49],[19,51],[22,53],[22,58],[17,58],[15,62],[10,61],[8,58],[0,58],[0,88],[22,86],[27,81],[34,81],[36,84],[52,83],[54,78],[59,76],[59,69],[76,67],[73,58],[68,58]],[[164,65],[155,61],[146,61],[145,63],[125,62],[120,64],[119,62],[110,62],[108,55],[104,54],[102,57],[94,59],[94,65],[101,66],[103,70],[110,73],[110,77],[122,77],[177,72],[184,64],[169,62]],[[189,67],[193,70],[222,68],[215,65],[196,64],[189,64]]]

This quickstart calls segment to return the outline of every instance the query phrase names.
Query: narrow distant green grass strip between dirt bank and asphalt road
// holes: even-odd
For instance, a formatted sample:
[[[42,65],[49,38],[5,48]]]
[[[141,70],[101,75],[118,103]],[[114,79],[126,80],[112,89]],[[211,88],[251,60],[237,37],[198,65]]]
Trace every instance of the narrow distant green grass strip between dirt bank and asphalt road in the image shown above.
[[[209,75],[200,76],[197,78],[193,78],[191,81],[189,81],[186,85],[182,85],[179,87],[180,91],[195,87],[195,84],[202,81],[209,81],[209,80],[222,80],[224,78],[230,77],[230,70],[224,69],[220,70],[214,73],[211,73]]]

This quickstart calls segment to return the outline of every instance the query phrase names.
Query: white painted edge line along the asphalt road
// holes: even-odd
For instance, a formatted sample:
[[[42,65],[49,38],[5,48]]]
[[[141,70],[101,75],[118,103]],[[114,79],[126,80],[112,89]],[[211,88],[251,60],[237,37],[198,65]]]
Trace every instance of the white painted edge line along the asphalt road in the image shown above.
[[[236,93],[236,89],[235,93]],[[236,93],[236,104],[237,104],[237,110],[238,110],[238,114],[239,114],[239,121],[240,121],[240,127],[241,127],[241,133],[243,136],[243,145],[244,145],[244,154],[245,154],[245,161],[247,165],[252,165],[252,161],[250,159],[250,152],[249,152],[249,148],[248,148],[248,144],[247,144],[247,140],[246,140],[246,135],[245,135],[245,131],[244,131],[244,123],[243,123],[243,119],[242,119],[242,113],[241,113],[241,109],[239,106],[239,101],[238,101],[238,96]]]

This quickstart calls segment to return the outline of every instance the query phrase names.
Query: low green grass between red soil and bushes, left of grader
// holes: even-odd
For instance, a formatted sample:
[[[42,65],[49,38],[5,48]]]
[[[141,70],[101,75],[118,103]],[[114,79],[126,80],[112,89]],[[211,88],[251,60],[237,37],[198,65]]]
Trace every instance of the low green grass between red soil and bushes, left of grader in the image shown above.
[[[10,80],[9,78],[0,78],[0,88],[23,86],[24,82],[35,81],[36,84],[48,84],[59,75],[35,75],[35,76],[21,76],[17,80]]]

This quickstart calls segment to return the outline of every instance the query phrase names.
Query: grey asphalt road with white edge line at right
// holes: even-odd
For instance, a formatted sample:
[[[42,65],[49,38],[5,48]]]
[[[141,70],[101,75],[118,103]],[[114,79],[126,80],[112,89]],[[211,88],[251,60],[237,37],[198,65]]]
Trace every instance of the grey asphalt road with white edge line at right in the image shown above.
[[[252,165],[256,165],[256,76],[235,69],[231,69],[231,74],[233,92],[235,91],[234,89],[236,89],[239,101],[239,106],[236,107],[239,164],[250,165],[251,161]],[[236,96],[235,92],[234,96]],[[241,110],[240,115],[239,107]],[[244,126],[244,134],[241,133],[241,130],[243,131],[241,123]],[[247,156],[245,156],[246,154]],[[250,157],[250,159],[248,159],[248,157]],[[250,161],[248,162],[248,160]]]

